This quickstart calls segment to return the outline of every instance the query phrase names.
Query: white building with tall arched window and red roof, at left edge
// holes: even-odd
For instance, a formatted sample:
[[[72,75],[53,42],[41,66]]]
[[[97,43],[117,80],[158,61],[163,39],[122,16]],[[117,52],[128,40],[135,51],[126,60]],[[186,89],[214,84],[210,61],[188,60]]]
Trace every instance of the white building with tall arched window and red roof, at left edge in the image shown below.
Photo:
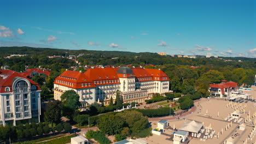
[[[12,70],[0,70],[0,125],[40,122],[38,83]]]

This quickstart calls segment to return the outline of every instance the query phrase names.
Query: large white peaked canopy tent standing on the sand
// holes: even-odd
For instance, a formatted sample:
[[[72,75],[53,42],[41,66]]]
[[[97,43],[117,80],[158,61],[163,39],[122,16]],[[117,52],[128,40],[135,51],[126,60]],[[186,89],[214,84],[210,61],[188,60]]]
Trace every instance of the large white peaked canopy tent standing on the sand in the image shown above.
[[[187,122],[187,123],[183,124],[182,127],[179,128],[179,130],[198,133],[199,130],[202,128],[202,126],[203,126],[202,123],[191,121],[191,122]]]

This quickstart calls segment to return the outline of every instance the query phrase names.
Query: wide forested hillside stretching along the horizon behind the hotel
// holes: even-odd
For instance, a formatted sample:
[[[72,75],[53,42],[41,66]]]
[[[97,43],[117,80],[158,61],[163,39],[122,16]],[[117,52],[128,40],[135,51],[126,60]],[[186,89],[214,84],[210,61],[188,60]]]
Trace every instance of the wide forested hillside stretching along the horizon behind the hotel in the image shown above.
[[[61,50],[45,49],[33,47],[0,47],[0,65],[9,65],[11,70],[24,71],[25,65],[28,68],[51,69],[51,81],[61,73],[61,70],[72,66],[78,67],[72,59],[48,56],[78,56],[79,53],[85,55],[77,58],[80,65],[115,65],[146,68],[160,68],[170,77],[170,89],[184,94],[200,91],[207,95],[210,83],[219,83],[221,80],[235,81],[242,85],[252,85],[256,74],[255,58],[245,57],[222,57],[218,58],[178,58],[171,56],[160,56],[150,52],[121,52],[121,51],[88,51],[88,50]],[[4,58],[10,54],[26,54],[25,57]],[[116,59],[112,59],[118,57]],[[225,62],[224,59],[232,61]],[[241,60],[242,62],[238,62]],[[153,64],[147,66],[146,64]],[[191,68],[190,66],[198,66]]]

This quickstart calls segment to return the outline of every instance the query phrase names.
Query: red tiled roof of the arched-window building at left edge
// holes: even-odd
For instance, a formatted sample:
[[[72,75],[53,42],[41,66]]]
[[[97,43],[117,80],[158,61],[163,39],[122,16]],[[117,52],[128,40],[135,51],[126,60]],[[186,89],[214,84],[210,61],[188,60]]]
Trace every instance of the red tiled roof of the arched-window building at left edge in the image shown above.
[[[26,76],[23,76],[19,73],[17,73],[16,71],[13,70],[0,70],[0,75],[2,75],[0,77],[0,92],[4,93],[5,92],[5,87],[10,87],[10,92],[13,92],[13,79],[15,77],[22,77],[27,79],[32,85],[36,85],[37,89],[40,90],[40,87],[38,85],[38,83],[28,79]],[[5,79],[3,79],[3,76],[6,76]]]

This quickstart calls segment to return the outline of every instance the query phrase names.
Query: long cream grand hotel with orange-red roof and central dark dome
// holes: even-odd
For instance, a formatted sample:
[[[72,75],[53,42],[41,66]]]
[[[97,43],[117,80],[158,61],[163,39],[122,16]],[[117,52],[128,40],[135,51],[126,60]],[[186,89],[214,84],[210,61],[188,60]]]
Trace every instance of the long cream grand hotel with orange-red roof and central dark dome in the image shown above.
[[[140,103],[154,93],[169,92],[169,77],[160,69],[90,68],[82,71],[66,70],[54,81],[54,98],[73,89],[80,95],[82,107],[95,101],[108,105],[115,100],[117,90],[124,103]]]

